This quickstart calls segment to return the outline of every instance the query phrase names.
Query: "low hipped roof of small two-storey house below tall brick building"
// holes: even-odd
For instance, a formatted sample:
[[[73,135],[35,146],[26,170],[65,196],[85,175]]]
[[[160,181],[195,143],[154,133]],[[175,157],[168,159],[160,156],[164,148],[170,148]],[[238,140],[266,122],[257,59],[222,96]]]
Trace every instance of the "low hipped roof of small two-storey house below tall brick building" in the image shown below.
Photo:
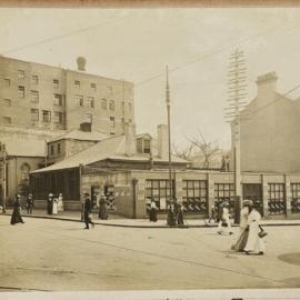
[[[59,140],[80,140],[80,141],[101,141],[109,136],[100,131],[82,131],[79,129],[72,129],[66,133],[58,136],[50,140],[50,142]]]

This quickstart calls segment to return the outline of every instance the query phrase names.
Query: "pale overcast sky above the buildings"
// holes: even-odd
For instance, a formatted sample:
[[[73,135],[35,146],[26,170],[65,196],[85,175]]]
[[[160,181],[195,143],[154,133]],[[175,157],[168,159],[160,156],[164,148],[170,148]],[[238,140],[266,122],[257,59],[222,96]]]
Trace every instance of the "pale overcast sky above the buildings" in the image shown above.
[[[68,69],[84,56],[88,72],[132,81],[139,133],[156,134],[157,124],[167,122],[163,73],[166,64],[177,68],[170,88],[179,146],[200,128],[208,140],[230,147],[223,109],[237,47],[247,58],[248,101],[256,78],[269,71],[277,71],[280,92],[299,84],[299,32],[300,9],[287,8],[0,9],[3,56]]]

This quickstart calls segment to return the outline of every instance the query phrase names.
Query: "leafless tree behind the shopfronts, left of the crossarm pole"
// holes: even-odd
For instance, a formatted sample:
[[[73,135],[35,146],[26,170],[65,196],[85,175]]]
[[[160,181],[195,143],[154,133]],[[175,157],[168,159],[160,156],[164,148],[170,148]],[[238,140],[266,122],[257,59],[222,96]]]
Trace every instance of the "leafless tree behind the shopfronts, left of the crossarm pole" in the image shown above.
[[[203,154],[202,168],[208,169],[212,156],[220,150],[219,146],[216,142],[208,142],[200,129],[198,129],[198,137],[192,139],[187,137],[187,139]]]

